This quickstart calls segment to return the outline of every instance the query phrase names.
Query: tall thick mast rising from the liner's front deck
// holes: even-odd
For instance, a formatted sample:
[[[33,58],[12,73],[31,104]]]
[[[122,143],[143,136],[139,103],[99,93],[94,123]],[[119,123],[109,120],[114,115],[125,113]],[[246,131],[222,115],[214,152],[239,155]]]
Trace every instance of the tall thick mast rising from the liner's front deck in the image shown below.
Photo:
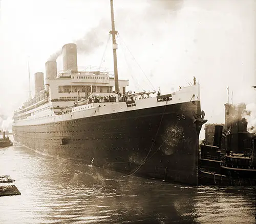
[[[116,57],[116,50],[117,50],[116,34],[117,34],[117,31],[115,30],[113,0],[110,0],[110,6],[111,6],[111,22],[112,22],[112,30],[110,31],[110,33],[112,35],[112,42],[113,42],[115,91],[116,91],[116,93],[118,93],[119,92],[119,86],[118,86],[117,57]]]

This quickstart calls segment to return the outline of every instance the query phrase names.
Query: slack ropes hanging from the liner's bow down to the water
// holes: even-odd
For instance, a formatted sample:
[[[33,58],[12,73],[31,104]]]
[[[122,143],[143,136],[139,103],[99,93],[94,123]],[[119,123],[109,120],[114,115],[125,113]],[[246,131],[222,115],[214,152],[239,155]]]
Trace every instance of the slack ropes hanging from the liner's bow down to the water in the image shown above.
[[[194,97],[194,95],[190,98],[190,101],[189,101],[189,102],[191,102],[191,100],[193,99],[193,97]],[[167,101],[166,101],[166,104],[165,104],[165,108],[166,108],[166,105],[167,105]],[[186,106],[186,108],[185,108],[185,110],[182,112],[182,115],[181,115],[181,116],[184,115],[184,113],[185,113],[185,111],[187,110],[188,106],[189,106],[189,105]],[[164,108],[164,111],[165,111],[165,108]],[[163,112],[163,114],[162,114],[162,118],[163,118],[163,115],[164,115],[164,112]],[[161,122],[162,122],[162,118],[161,118],[161,121],[160,121],[160,125],[161,125]],[[179,121],[180,121],[180,119],[177,121],[177,123],[176,123],[176,125],[175,125],[174,127],[176,127],[176,126],[178,125]],[[157,130],[157,134],[158,134],[158,131],[159,131],[159,129],[160,129],[160,125],[159,125],[159,128],[158,128],[158,130]],[[173,128],[173,130],[170,131],[170,134],[174,131],[174,129],[175,129],[175,128]],[[156,137],[157,137],[157,134],[156,134],[156,136],[155,136],[155,139],[156,139]],[[144,159],[144,161],[143,161],[137,168],[135,168],[134,170],[132,170],[132,171],[126,173],[125,175],[119,176],[119,177],[117,177],[117,178],[129,177],[129,176],[134,175],[134,173],[136,173],[136,172],[140,169],[141,166],[143,166],[148,160],[151,159],[152,156],[155,155],[156,152],[158,152],[158,151],[160,150],[160,148],[162,147],[162,145],[163,145],[163,144],[166,142],[166,140],[169,138],[170,134],[165,138],[165,140],[163,141],[163,143],[158,147],[158,149],[157,149],[148,159],[147,159],[147,156],[149,155],[150,152],[148,152],[148,154],[146,155],[146,158]],[[176,134],[176,132],[172,135],[172,137],[174,137],[175,134]],[[155,141],[152,143],[151,149],[152,149],[154,143],[155,143]],[[150,149],[150,151],[151,151],[151,149]]]

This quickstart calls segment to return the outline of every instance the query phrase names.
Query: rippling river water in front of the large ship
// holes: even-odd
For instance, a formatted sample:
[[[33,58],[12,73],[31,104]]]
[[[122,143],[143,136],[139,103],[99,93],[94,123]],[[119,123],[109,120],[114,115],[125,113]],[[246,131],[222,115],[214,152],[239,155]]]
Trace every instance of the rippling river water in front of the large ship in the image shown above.
[[[0,175],[22,193],[0,197],[0,223],[255,223],[255,189],[188,187],[0,149]]]

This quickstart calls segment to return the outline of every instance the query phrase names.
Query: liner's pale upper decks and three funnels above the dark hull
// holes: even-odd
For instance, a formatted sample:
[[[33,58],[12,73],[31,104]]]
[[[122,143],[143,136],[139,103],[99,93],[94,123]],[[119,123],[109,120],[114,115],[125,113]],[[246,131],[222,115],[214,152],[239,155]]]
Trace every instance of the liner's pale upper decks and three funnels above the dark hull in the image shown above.
[[[35,73],[35,97],[26,102],[22,108],[14,113],[14,126],[42,125],[44,123],[73,120],[83,117],[140,110],[158,106],[200,101],[199,85],[181,88],[169,94],[167,101],[158,101],[148,93],[128,94],[126,87],[128,80],[119,80],[119,95],[113,92],[114,78],[105,71],[78,71],[75,56],[68,50],[72,47],[72,54],[76,54],[75,44],[66,44],[65,60],[69,70],[57,74],[55,61],[46,62],[46,79],[42,79],[42,72]],[[75,48],[75,51],[74,51]],[[69,57],[68,57],[69,56]],[[71,57],[72,56],[72,57]],[[71,60],[73,62],[70,62]],[[43,90],[42,87],[45,86]],[[86,99],[74,107],[74,102]],[[133,102],[133,103],[131,103]]]

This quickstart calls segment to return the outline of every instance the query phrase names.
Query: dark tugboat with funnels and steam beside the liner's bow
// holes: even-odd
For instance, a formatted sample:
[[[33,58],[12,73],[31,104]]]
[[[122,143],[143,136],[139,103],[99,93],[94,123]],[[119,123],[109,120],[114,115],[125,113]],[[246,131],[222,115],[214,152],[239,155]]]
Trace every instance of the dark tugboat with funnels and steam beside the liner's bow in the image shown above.
[[[215,126],[213,145],[201,145],[199,184],[255,186],[256,136],[246,131],[247,122],[240,116],[245,105],[238,108],[225,106],[226,112],[227,107],[237,111],[237,117],[233,120],[226,119],[225,126],[229,128],[225,132],[222,132],[223,126]]]

